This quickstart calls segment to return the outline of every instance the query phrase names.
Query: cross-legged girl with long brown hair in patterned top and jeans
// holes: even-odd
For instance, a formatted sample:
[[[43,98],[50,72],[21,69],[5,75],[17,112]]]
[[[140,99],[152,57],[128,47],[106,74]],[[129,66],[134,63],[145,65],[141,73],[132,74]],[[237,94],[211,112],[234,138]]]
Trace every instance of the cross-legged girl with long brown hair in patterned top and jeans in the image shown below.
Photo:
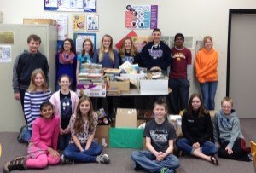
[[[69,161],[79,163],[108,164],[107,154],[102,154],[102,147],[93,141],[98,116],[93,112],[88,96],[79,100],[77,111],[70,118],[71,141],[61,155],[61,163]]]

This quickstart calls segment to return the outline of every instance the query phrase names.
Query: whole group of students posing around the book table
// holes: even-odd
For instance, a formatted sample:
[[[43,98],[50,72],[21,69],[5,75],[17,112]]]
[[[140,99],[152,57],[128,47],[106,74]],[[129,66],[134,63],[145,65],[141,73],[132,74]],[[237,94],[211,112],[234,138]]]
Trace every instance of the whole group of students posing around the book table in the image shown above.
[[[189,91],[183,96],[181,94],[182,88],[189,86],[191,78],[191,52],[183,47],[184,37],[177,34],[176,46],[171,50],[160,41],[159,29],[154,29],[152,36],[153,42],[144,46],[141,55],[137,54],[131,38],[124,39],[119,55],[113,49],[113,39],[109,35],[102,37],[101,47],[95,54],[90,39],[85,39],[78,58],[73,41],[66,39],[61,52],[56,55],[56,78],[59,80],[53,95],[47,86],[49,66],[46,57],[38,51],[40,37],[29,36],[29,51],[16,58],[13,70],[15,100],[21,101],[27,124],[26,129],[20,130],[18,138],[29,142],[28,155],[5,163],[4,171],[43,168],[48,164],[58,164],[60,160],[66,163],[68,159],[74,162],[109,163],[108,155],[101,154],[102,147],[93,141],[97,116],[90,98],[83,96],[79,100],[73,92],[84,62],[117,68],[119,63],[130,61],[164,73],[171,65],[169,85],[172,86],[172,105],[178,107],[177,111],[186,109],[182,118],[184,138],[177,139],[177,147],[184,153],[213,164],[218,164],[215,153],[219,153],[220,157],[248,161],[249,148],[245,146],[239,119],[232,110],[233,102],[229,98],[222,101],[222,110],[213,118],[214,128],[207,112],[214,109],[218,78],[218,53],[212,48],[212,37],[205,37],[204,48],[199,51],[195,61],[196,77],[201,83],[203,98],[198,94],[191,95],[187,107],[186,101],[180,101],[189,96]],[[142,167],[150,172],[172,172],[178,167],[178,159],[171,154],[176,133],[172,124],[166,121],[166,112],[166,102],[154,102],[155,118],[147,123],[144,130],[148,151],[131,155],[136,170]],[[57,147],[64,150],[62,156],[57,152]]]

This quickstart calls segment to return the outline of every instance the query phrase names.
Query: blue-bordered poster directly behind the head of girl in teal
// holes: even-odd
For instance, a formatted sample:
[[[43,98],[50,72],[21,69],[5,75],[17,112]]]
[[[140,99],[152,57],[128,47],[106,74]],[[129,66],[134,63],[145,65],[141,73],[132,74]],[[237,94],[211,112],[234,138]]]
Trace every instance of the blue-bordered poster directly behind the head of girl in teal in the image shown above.
[[[77,54],[81,54],[83,50],[84,39],[89,38],[93,43],[94,50],[96,50],[96,33],[73,33],[73,42],[76,46]]]

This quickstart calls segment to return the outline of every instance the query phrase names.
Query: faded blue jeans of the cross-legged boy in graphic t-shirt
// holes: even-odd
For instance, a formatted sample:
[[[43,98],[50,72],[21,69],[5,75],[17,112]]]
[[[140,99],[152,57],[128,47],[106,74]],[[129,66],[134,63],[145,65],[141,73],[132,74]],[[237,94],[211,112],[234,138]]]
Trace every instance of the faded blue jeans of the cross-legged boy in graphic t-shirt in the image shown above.
[[[163,161],[156,161],[154,154],[148,150],[132,152],[131,159],[149,172],[160,172],[163,167],[166,167],[169,169],[167,172],[172,173],[179,166],[176,156],[169,154]]]

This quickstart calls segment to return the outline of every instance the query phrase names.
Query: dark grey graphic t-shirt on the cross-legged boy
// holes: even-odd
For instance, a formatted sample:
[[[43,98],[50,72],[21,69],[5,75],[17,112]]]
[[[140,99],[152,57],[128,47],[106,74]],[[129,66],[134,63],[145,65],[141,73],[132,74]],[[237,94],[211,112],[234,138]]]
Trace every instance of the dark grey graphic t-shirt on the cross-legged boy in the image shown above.
[[[177,137],[172,124],[166,120],[162,124],[157,124],[154,119],[146,124],[143,136],[151,138],[151,145],[157,152],[166,152],[169,140]]]

